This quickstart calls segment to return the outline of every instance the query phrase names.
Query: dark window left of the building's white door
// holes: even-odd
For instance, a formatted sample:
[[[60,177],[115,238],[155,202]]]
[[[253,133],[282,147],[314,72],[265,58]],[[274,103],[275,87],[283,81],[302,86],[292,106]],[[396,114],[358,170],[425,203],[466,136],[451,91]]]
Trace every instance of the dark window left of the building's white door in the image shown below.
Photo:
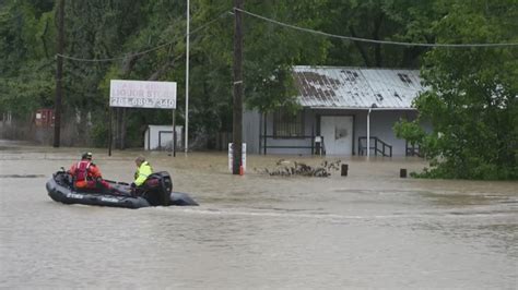
[[[273,113],[273,137],[302,137],[304,136],[303,110],[296,113],[279,109]]]

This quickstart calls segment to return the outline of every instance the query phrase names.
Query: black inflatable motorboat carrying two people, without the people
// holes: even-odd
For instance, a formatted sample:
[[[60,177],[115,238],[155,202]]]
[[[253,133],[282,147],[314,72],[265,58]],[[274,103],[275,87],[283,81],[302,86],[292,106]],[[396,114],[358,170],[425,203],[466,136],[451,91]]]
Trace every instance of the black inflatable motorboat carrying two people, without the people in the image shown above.
[[[47,181],[47,192],[50,198],[63,204],[84,204],[113,207],[140,208],[146,206],[198,205],[188,194],[173,192],[173,181],[166,171],[156,172],[148,179],[138,194],[125,182],[106,180],[110,190],[78,191],[73,186],[72,176],[64,170],[52,174]]]

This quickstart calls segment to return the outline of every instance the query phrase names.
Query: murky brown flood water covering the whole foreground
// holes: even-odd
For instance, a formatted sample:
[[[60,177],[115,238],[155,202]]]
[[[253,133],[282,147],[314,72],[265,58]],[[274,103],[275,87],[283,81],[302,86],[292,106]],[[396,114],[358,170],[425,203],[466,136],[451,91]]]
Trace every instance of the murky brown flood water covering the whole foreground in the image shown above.
[[[201,206],[51,201],[45,183],[81,152],[0,142],[0,288],[518,288],[517,182],[399,178],[425,166],[413,158],[270,177],[281,156],[254,155],[239,177],[226,153],[145,153]],[[140,152],[93,153],[106,179],[131,181]]]

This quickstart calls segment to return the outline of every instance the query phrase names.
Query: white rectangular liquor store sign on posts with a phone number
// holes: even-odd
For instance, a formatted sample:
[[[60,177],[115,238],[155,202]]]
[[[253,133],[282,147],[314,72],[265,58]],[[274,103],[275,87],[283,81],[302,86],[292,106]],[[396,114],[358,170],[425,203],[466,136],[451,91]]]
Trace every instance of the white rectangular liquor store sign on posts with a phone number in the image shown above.
[[[109,107],[176,109],[176,82],[111,80]]]

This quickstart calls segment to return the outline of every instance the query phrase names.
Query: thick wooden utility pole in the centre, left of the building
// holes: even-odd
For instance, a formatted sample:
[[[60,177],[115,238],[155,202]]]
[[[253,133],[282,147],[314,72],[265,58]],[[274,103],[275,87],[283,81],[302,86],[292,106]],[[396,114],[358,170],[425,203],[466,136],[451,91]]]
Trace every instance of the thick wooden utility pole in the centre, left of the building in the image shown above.
[[[234,0],[234,8],[243,10],[243,0]],[[233,167],[239,174],[243,156],[243,13],[234,10],[234,119],[233,119]]]

